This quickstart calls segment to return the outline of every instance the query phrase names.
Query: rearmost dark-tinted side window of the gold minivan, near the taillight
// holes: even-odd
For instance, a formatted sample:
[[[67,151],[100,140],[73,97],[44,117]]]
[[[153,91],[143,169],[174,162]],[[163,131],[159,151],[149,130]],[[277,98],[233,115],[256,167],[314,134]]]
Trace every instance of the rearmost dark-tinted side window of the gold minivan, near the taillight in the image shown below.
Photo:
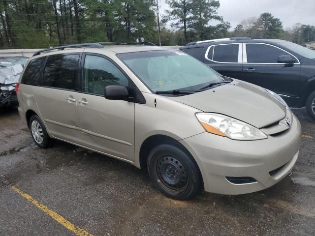
[[[35,58],[25,68],[21,84],[37,86],[46,57]]]

